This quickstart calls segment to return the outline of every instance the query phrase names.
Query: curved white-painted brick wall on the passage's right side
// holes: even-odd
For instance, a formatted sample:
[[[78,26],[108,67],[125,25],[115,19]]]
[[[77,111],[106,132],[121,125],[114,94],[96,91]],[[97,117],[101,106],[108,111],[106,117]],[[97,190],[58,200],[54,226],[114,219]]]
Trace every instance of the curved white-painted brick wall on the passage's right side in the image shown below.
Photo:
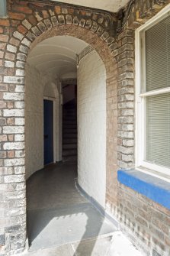
[[[78,181],[101,206],[106,192],[106,72],[95,50],[78,69]]]

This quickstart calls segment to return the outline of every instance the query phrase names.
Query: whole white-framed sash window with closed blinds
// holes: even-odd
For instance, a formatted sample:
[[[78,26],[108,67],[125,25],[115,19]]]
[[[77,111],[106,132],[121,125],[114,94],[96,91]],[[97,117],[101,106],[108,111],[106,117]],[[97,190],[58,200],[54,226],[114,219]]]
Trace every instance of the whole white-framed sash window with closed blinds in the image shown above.
[[[136,166],[170,177],[169,11],[136,31]]]

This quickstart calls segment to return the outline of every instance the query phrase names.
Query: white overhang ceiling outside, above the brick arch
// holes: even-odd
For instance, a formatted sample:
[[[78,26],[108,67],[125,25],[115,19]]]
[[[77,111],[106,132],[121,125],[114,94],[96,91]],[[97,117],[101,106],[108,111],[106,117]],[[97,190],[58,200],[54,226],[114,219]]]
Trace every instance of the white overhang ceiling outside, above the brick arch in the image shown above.
[[[106,11],[117,12],[130,0],[53,0],[54,2],[64,2],[72,5],[82,5],[90,8],[97,8]]]

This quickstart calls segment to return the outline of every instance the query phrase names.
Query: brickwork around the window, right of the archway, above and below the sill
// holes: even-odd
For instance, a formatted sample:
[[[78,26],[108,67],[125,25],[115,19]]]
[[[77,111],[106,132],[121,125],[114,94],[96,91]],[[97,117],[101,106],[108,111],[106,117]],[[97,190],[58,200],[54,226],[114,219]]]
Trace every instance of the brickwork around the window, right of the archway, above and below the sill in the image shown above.
[[[164,7],[163,2],[134,2],[127,24],[118,35],[117,164],[135,166],[135,29]],[[125,15],[126,18],[126,15]],[[170,211],[127,186],[117,186],[117,219],[120,228],[146,255],[170,255]]]

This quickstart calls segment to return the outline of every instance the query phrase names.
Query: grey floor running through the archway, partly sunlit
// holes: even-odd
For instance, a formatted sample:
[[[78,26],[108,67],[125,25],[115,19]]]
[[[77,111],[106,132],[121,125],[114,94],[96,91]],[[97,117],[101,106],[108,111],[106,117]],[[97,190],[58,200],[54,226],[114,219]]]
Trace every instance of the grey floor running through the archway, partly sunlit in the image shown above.
[[[116,228],[75,188],[76,166],[53,164],[27,180],[27,255],[110,255]]]

